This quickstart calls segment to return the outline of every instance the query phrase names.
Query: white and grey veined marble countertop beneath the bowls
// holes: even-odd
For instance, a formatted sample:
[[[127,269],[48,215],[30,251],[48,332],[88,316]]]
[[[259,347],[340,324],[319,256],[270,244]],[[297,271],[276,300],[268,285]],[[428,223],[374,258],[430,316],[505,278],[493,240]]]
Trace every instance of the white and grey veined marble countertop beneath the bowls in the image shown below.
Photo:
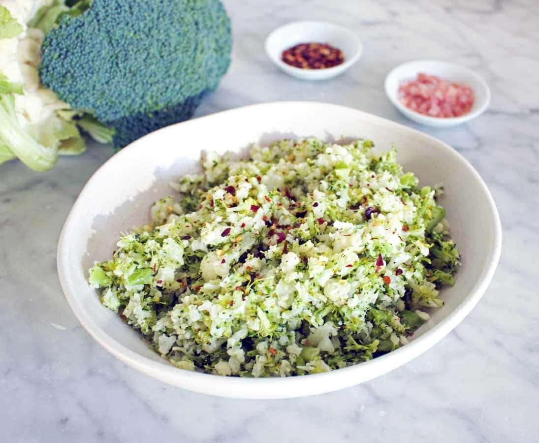
[[[492,105],[454,129],[420,128],[478,169],[500,210],[496,275],[472,314],[436,347],[360,386],[275,401],[186,392],[135,372],[80,326],[61,292],[56,244],[78,192],[113,152],[92,146],[47,174],[0,167],[0,441],[539,441],[539,3],[536,0],[226,2],[233,63],[198,115],[248,103],[309,99],[409,124],[383,79],[406,60],[478,71]],[[364,40],[342,77],[308,83],[277,71],[265,35],[326,19]],[[470,214],[473,217],[474,214]]]

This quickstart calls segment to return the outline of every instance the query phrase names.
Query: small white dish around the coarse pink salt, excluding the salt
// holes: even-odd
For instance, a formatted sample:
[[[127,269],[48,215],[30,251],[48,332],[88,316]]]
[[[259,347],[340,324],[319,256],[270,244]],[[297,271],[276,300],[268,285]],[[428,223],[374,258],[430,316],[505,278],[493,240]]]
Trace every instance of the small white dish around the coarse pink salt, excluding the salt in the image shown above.
[[[398,99],[399,85],[405,80],[416,79],[420,72],[470,86],[475,95],[472,109],[459,117],[441,118],[420,114],[404,106]],[[475,119],[490,103],[490,89],[479,74],[464,66],[438,60],[410,61],[393,68],[385,77],[385,93],[393,105],[410,120],[436,128],[449,128]]]

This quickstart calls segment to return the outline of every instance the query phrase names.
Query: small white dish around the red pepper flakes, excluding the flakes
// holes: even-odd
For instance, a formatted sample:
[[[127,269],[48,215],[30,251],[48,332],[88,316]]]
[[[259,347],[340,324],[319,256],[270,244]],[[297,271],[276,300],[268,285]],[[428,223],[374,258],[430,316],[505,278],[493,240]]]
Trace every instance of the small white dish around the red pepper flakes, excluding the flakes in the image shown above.
[[[327,43],[340,49],[344,62],[326,69],[302,69],[281,60],[282,51],[299,43]],[[303,80],[326,80],[342,74],[360,58],[363,45],[343,26],[326,22],[292,22],[280,26],[266,38],[266,53],[282,71]]]

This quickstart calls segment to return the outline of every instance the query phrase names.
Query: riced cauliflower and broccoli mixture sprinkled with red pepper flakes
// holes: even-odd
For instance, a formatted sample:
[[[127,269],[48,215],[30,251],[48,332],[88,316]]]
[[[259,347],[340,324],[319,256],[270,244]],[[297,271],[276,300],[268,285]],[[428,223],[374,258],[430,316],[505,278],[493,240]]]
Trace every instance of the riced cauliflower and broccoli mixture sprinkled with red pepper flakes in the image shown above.
[[[182,369],[292,376],[392,351],[443,306],[459,252],[439,190],[372,146],[208,154],[89,282]]]

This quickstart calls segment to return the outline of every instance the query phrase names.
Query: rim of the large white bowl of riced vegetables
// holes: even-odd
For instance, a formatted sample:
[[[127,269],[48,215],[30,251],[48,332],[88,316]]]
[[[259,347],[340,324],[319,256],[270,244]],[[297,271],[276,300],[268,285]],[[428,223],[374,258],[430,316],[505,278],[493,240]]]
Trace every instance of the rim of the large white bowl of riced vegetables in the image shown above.
[[[471,164],[457,151],[448,146],[441,140],[436,139],[428,134],[421,133],[416,129],[409,128],[402,124],[393,122],[391,120],[384,119],[383,117],[376,116],[374,114],[366,113],[361,110],[341,106],[333,105],[331,103],[313,102],[313,101],[277,101],[268,103],[258,103],[255,105],[249,105],[229,110],[224,110],[215,114],[210,114],[197,119],[188,120],[181,123],[176,123],[168,127],[158,129],[155,132],[163,132],[174,130],[172,128],[178,125],[189,125],[194,121],[203,119],[214,119],[218,115],[236,113],[245,110],[255,111],[260,108],[272,107],[272,106],[324,106],[340,108],[347,112],[354,112],[358,116],[368,117],[369,119],[377,120],[390,126],[405,128],[412,131],[414,134],[421,134],[421,136],[431,139],[433,142],[440,144],[440,149],[444,149],[449,152],[450,155],[457,157],[462,167],[468,169],[474,176],[482,189],[484,196],[487,199],[488,207],[490,209],[490,216],[494,223],[494,239],[493,248],[488,258],[486,266],[483,267],[482,273],[475,286],[469,290],[466,299],[462,301],[453,312],[447,315],[438,324],[434,325],[432,329],[425,331],[425,333],[410,343],[406,344],[402,348],[389,352],[388,354],[376,357],[370,361],[362,362],[348,366],[347,368],[336,369],[329,372],[310,374],[304,376],[295,377],[275,377],[275,378],[240,378],[240,377],[223,377],[218,375],[212,375],[208,373],[181,370],[172,366],[165,359],[162,361],[155,361],[149,357],[143,356],[138,352],[135,352],[125,347],[120,342],[116,341],[114,337],[108,335],[99,324],[95,323],[91,316],[89,316],[84,308],[79,304],[79,291],[75,287],[76,278],[73,272],[73,266],[71,266],[73,260],[80,260],[80,257],[72,257],[70,252],[70,238],[73,235],[77,235],[77,222],[76,218],[82,210],[84,213],[84,207],[81,207],[86,195],[91,193],[93,182],[98,179],[98,176],[102,174],[102,171],[113,169],[114,165],[119,164],[124,158],[128,156],[136,155],[137,150],[142,150],[146,147],[146,141],[149,140],[154,133],[150,133],[141,137],[129,144],[126,148],[122,149],[115,155],[109,158],[103,163],[94,174],[88,179],[84,188],[81,190],[79,196],[75,200],[70,213],[67,216],[66,222],[60,234],[57,252],[57,266],[58,276],[61,287],[64,291],[66,299],[73,310],[73,313],[80,321],[82,326],[87,332],[114,356],[118,357],[122,362],[132,366],[132,368],[139,370],[151,377],[161,380],[162,382],[183,387],[195,392],[211,393],[216,396],[229,397],[229,398],[257,398],[257,399],[271,399],[271,398],[292,398],[302,397],[317,393],[324,393],[329,391],[336,391],[343,389],[344,387],[353,386],[372,378],[383,375],[398,366],[401,366],[411,359],[423,354],[426,350],[430,349],[434,344],[439,342],[441,338],[446,336],[453,330],[458,323],[460,323],[464,317],[472,310],[475,304],[480,300],[481,296],[487,289],[490,280],[494,275],[496,266],[500,259],[501,244],[502,244],[502,231],[500,217],[494,203],[494,199],[490,194],[486,184],[481,179],[479,173],[472,167]],[[344,373],[354,374],[355,378],[343,377]],[[351,379],[351,381],[350,381]],[[283,394],[283,392],[287,392]]]

